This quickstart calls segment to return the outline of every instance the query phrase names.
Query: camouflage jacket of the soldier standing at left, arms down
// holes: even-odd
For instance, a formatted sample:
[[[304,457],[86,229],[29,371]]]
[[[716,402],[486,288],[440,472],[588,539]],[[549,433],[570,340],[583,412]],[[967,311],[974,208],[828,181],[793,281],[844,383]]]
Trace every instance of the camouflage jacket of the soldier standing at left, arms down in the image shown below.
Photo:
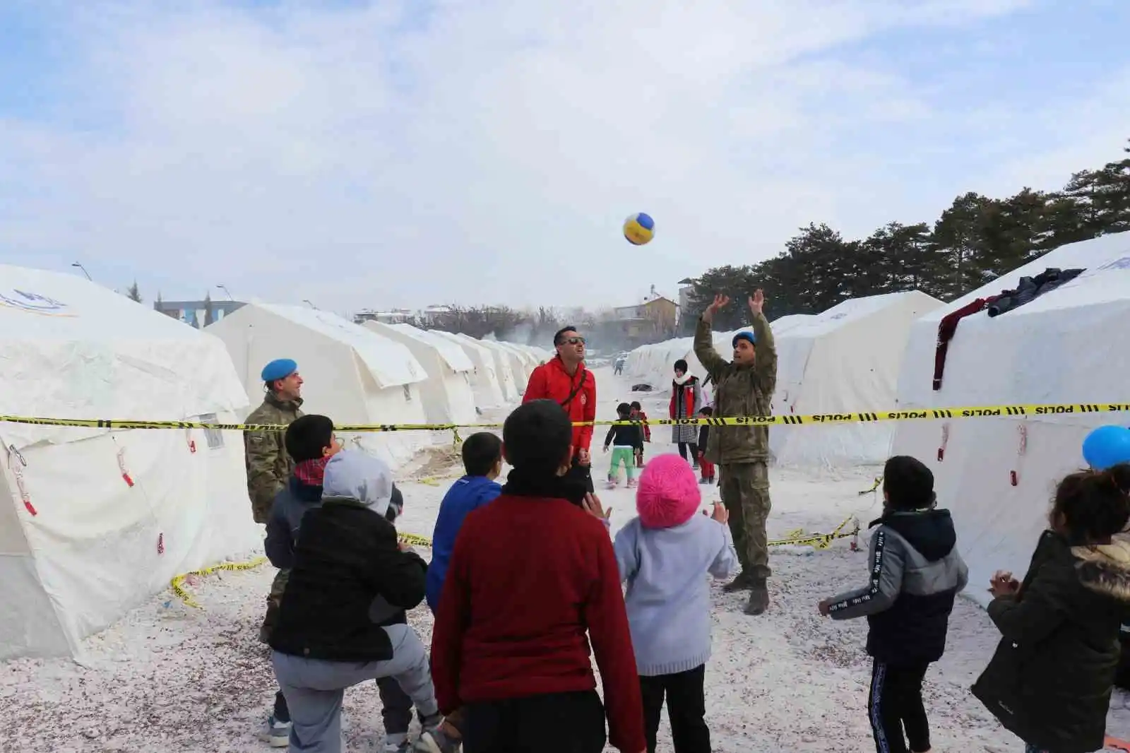
[[[273,392],[268,392],[263,404],[251,412],[244,423],[247,424],[281,424],[289,426],[302,415],[296,400],[279,400]],[[247,495],[251,496],[251,511],[255,522],[264,523],[271,511],[275,495],[290,479],[294,464],[286,452],[284,439],[286,432],[244,432],[243,448],[247,466]]]

